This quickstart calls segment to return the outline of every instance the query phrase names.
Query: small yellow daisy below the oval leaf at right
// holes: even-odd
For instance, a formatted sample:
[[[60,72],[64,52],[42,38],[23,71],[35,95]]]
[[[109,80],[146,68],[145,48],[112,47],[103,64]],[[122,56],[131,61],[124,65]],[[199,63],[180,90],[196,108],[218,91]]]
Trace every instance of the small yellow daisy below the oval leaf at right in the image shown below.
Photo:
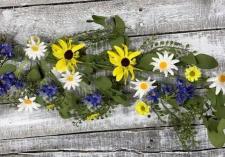
[[[185,77],[190,82],[198,81],[201,75],[201,70],[196,66],[191,66],[185,69]]]

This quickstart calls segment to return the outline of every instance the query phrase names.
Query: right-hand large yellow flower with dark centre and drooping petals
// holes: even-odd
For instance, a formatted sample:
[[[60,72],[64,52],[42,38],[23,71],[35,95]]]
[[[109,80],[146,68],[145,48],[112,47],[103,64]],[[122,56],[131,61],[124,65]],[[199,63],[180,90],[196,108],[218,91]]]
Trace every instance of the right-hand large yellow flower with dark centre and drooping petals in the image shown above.
[[[124,78],[125,82],[131,74],[131,80],[135,79],[134,76],[134,65],[136,64],[135,57],[139,56],[141,52],[135,51],[130,52],[126,45],[123,48],[114,46],[116,52],[108,51],[109,61],[116,66],[113,70],[113,76],[116,77],[116,81],[120,81]]]

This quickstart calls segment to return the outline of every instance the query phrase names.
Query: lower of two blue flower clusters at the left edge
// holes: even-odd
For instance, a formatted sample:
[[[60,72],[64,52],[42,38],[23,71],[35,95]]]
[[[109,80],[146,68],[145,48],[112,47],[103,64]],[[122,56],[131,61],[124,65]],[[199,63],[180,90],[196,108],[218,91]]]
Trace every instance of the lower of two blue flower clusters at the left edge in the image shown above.
[[[12,86],[23,88],[24,83],[21,80],[18,80],[14,73],[0,75],[0,96],[6,94]]]

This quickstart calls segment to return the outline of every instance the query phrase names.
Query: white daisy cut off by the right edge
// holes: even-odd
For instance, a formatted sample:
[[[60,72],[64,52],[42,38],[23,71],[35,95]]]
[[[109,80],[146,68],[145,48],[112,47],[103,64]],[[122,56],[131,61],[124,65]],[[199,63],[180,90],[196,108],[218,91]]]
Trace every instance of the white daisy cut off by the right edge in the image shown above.
[[[220,91],[225,94],[225,72],[218,74],[216,77],[209,78],[207,82],[212,82],[209,88],[216,88],[216,95],[218,95]]]

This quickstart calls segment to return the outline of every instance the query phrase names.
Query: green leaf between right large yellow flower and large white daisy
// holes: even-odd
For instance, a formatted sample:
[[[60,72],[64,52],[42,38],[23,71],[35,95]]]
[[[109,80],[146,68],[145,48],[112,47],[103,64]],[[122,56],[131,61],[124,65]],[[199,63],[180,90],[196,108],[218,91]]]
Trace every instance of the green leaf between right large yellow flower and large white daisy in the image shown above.
[[[138,61],[137,68],[151,71],[153,69],[153,65],[150,65],[150,63],[153,61],[152,57],[156,57],[157,55],[155,53],[146,53],[143,54],[141,59]]]

